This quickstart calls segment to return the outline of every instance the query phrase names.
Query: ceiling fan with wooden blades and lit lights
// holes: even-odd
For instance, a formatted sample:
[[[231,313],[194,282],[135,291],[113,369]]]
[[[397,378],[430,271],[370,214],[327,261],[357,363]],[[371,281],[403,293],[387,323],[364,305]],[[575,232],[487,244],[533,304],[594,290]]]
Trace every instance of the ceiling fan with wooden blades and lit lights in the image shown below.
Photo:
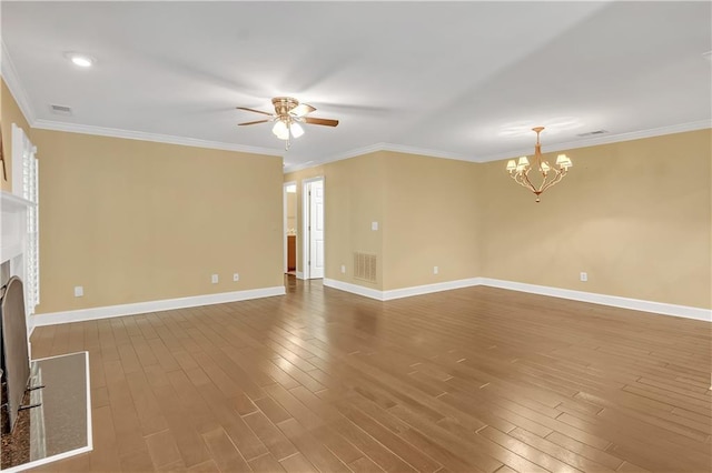
[[[297,99],[291,97],[275,97],[271,99],[271,103],[275,105],[274,113],[248,109],[247,107],[237,107],[238,110],[247,110],[248,112],[261,113],[269,117],[265,120],[238,123],[238,125],[275,122],[271,132],[275,133],[278,139],[286,141],[285,150],[289,149],[291,138],[299,138],[304,134],[304,129],[300,123],[323,124],[326,127],[336,127],[338,124],[338,120],[307,117],[316,109],[309,104],[299,103]]]

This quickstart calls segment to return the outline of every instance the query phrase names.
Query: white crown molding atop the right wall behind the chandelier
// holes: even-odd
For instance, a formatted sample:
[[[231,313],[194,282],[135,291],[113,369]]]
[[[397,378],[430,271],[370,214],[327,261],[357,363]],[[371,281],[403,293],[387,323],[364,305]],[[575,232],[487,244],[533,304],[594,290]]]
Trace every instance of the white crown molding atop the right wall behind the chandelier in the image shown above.
[[[577,148],[597,147],[601,144],[611,144],[611,143],[620,143],[623,141],[641,140],[643,138],[662,137],[664,134],[674,134],[674,133],[684,133],[686,131],[704,130],[708,128],[712,128],[712,119],[699,120],[690,123],[673,124],[669,127],[651,128],[649,130],[631,131],[627,133],[609,134],[605,137],[589,138],[589,139],[578,140],[578,141],[566,141],[564,143],[555,143],[555,144],[547,145],[545,147],[546,150],[543,152],[550,153],[550,152],[556,152],[556,151],[574,150]],[[514,157],[522,157],[522,155],[530,155],[530,154],[532,154],[532,148],[527,148],[526,150],[490,154],[475,160],[475,162],[500,161],[505,159],[512,159]]]

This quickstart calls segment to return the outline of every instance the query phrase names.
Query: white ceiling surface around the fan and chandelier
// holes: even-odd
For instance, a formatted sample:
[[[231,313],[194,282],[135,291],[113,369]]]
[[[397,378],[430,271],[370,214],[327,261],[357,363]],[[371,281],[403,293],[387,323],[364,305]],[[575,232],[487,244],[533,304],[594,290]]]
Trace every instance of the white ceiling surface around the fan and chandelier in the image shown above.
[[[575,128],[544,131],[546,152],[589,143],[576,134],[600,129],[616,137],[705,128],[712,113],[708,1],[2,1],[1,9],[3,76],[11,69],[13,93],[27,97],[36,125],[251,147],[284,154],[287,169],[378,143],[485,161],[532,152],[534,133],[502,134],[512,127],[574,120]],[[67,51],[96,66],[81,70]],[[287,152],[270,124],[236,127],[261,115],[235,107],[271,111],[270,98],[285,94],[339,125],[306,125]]]

